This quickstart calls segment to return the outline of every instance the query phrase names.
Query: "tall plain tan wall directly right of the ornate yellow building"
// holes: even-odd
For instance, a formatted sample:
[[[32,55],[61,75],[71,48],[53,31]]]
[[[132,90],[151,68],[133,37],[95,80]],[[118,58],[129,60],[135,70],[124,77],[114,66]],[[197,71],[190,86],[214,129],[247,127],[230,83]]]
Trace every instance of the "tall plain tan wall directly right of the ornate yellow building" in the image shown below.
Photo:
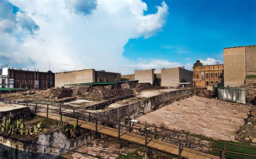
[[[245,47],[224,48],[224,85],[237,85],[245,79]]]

